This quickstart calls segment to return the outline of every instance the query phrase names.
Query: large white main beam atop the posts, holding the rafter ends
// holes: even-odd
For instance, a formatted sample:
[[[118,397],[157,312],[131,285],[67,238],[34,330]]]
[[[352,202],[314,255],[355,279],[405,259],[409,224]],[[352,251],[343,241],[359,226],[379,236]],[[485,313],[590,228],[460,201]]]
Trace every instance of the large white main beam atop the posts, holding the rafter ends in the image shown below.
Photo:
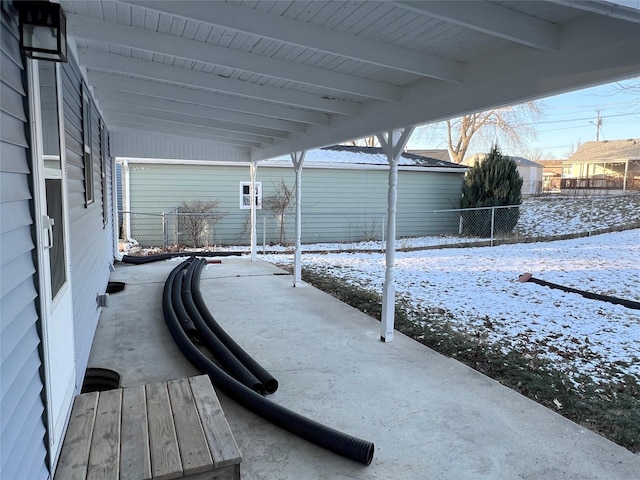
[[[563,25],[563,48],[547,54],[540,50],[504,49],[497,55],[478,57],[467,65],[469,81],[464,88],[423,80],[407,88],[401,108],[367,104],[366,123],[336,119],[333,132],[311,128],[286,144],[275,143],[251,153],[259,161],[292,151],[317,148],[351,138],[425,121],[442,121],[490,108],[513,105],[544,96],[640,75],[638,62],[640,29],[601,17],[584,15]],[[499,72],[498,75],[492,72]],[[333,135],[327,135],[332,133]],[[284,147],[284,148],[283,148]]]

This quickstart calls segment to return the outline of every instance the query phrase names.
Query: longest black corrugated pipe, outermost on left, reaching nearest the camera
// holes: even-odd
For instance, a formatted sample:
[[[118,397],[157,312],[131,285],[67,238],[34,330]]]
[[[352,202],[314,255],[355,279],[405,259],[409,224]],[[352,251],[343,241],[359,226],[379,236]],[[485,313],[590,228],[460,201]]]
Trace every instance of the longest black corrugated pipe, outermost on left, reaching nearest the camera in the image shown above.
[[[177,315],[177,311],[184,311],[179,305],[181,298],[173,295],[178,283],[178,273],[188,263],[189,261],[181,263],[169,274],[162,295],[162,310],[173,339],[191,363],[208,374],[216,388],[265,420],[338,455],[369,465],[375,449],[372,442],[334,430],[267,400],[232,378],[191,343],[182,330]],[[175,305],[172,300],[176,301]]]

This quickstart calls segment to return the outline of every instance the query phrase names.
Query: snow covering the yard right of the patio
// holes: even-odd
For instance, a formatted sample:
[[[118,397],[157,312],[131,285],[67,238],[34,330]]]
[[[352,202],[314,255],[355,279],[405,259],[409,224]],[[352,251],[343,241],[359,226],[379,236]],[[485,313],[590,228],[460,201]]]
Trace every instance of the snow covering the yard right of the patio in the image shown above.
[[[328,248],[328,250],[330,250]],[[291,264],[290,254],[263,255]],[[640,310],[586,299],[534,283],[525,272],[572,288],[640,302],[640,230],[497,247],[396,253],[397,294],[419,308],[451,312],[445,321],[470,335],[551,360],[579,381],[640,380]],[[383,253],[303,255],[303,265],[375,289]]]

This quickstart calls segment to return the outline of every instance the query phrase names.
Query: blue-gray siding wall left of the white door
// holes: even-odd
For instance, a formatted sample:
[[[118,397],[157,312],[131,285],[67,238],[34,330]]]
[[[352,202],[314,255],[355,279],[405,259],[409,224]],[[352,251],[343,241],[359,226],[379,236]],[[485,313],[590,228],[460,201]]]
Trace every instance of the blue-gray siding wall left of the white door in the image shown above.
[[[45,479],[43,381],[27,103],[15,18],[2,13],[0,59],[0,478]]]

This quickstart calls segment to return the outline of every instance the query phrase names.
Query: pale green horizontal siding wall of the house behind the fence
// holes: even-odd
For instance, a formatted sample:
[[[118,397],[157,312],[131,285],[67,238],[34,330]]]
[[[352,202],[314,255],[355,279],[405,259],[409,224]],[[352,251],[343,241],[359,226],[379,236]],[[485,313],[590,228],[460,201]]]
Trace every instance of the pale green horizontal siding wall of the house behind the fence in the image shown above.
[[[249,211],[239,208],[239,184],[249,181],[249,167],[130,163],[131,236],[142,246],[162,243],[163,212],[182,202],[215,200],[224,218],[215,225],[215,244],[248,244]],[[431,213],[457,208],[463,175],[400,171],[397,235],[457,232],[457,220],[442,222]],[[258,167],[263,201],[282,181],[293,189],[293,168]],[[302,242],[344,242],[380,239],[386,222],[387,170],[303,168]],[[285,241],[294,240],[294,208],[286,216]],[[266,217],[266,222],[263,218]],[[167,216],[169,243],[176,225]],[[266,224],[266,235],[263,229]],[[278,220],[266,208],[258,211],[258,242],[279,240]]]

